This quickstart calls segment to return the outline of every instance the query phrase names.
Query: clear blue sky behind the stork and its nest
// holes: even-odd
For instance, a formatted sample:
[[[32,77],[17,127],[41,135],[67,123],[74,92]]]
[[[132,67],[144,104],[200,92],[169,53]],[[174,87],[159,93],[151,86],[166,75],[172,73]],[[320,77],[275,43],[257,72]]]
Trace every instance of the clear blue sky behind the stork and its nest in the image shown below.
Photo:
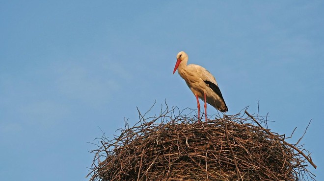
[[[96,147],[138,107],[195,109],[172,71],[184,50],[228,114],[269,113],[271,131],[312,152],[324,180],[323,1],[0,2],[0,178],[87,181]],[[211,114],[217,113],[209,106]]]

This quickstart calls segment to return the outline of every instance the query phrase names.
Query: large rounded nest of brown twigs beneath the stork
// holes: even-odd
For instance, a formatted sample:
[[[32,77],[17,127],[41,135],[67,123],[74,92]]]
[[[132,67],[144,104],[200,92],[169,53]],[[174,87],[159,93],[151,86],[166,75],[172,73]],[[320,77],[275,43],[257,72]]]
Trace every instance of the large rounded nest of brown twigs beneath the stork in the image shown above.
[[[244,117],[245,116],[245,117]],[[246,112],[208,121],[168,108],[121,135],[99,138],[90,181],[306,181],[305,149]]]

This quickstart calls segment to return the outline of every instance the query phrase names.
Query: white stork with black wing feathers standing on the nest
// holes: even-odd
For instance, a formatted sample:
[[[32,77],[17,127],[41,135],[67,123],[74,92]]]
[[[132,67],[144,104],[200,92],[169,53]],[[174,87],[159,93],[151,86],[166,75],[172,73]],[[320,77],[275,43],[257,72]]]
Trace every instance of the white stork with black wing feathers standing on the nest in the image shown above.
[[[188,55],[184,51],[177,54],[177,63],[174,67],[174,72],[178,69],[180,76],[185,79],[188,87],[196,96],[198,107],[198,119],[200,119],[200,104],[198,97],[205,102],[205,118],[207,120],[207,104],[212,105],[220,112],[227,112],[227,106],[224,98],[218,88],[215,77],[205,68],[189,64]]]

